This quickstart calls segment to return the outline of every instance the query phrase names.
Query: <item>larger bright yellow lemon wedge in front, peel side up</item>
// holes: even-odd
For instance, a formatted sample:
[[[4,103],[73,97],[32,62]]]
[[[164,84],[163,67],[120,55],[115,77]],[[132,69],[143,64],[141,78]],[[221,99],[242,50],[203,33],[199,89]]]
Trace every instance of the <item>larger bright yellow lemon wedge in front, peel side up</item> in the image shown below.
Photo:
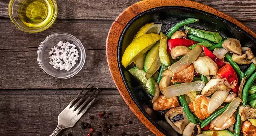
[[[137,59],[137,57],[146,53],[154,44],[160,40],[159,34],[144,34],[135,40],[125,49],[125,52],[122,57],[122,65],[126,68],[133,61]]]

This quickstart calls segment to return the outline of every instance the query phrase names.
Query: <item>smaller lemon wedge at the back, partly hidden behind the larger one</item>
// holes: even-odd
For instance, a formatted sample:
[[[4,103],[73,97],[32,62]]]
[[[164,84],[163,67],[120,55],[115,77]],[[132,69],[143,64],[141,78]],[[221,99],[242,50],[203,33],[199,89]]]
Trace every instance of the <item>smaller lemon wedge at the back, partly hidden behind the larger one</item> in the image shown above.
[[[137,33],[134,39],[137,39],[138,37],[144,34],[150,34],[150,33],[159,34],[161,31],[161,28],[162,28],[162,24],[154,24],[154,23],[146,24],[139,30],[139,32]]]

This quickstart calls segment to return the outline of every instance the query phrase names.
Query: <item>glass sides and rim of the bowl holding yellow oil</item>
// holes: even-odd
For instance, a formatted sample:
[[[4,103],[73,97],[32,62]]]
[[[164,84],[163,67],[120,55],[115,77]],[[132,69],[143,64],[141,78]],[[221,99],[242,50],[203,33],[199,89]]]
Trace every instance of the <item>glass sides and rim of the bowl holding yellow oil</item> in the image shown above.
[[[37,33],[44,31],[48,29],[49,27],[52,26],[54,21],[57,18],[58,14],[58,8],[57,8],[57,3],[55,0],[47,0],[48,4],[51,5],[51,13],[52,15],[48,17],[47,21],[42,26],[39,27],[29,27],[25,25],[19,18],[19,12],[18,8],[24,0],[10,0],[9,5],[8,5],[8,15],[12,23],[20,30],[28,33]],[[23,11],[24,12],[24,11]]]

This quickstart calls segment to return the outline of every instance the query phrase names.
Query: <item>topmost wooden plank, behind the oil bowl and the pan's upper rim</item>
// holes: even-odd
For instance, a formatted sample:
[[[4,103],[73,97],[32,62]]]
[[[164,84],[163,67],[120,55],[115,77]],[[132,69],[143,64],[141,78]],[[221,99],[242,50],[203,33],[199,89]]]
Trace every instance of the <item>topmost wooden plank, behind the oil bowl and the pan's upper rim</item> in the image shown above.
[[[60,19],[115,19],[140,0],[56,0]],[[255,0],[193,0],[222,11],[237,20],[256,20]],[[0,1],[0,17],[8,17],[9,0]]]

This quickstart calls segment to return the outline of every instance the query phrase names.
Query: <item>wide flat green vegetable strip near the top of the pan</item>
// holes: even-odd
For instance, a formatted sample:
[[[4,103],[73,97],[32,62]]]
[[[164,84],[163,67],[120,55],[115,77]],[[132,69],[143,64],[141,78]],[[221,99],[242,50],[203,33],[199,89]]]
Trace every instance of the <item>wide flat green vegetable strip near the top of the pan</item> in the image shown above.
[[[221,41],[223,41],[223,39],[222,39],[221,35],[219,35],[219,33],[195,29],[195,28],[191,28],[188,26],[184,26],[184,28],[185,28],[185,30],[188,30],[187,34],[189,34],[189,35],[195,35],[197,37],[212,41],[213,43],[220,43]]]

